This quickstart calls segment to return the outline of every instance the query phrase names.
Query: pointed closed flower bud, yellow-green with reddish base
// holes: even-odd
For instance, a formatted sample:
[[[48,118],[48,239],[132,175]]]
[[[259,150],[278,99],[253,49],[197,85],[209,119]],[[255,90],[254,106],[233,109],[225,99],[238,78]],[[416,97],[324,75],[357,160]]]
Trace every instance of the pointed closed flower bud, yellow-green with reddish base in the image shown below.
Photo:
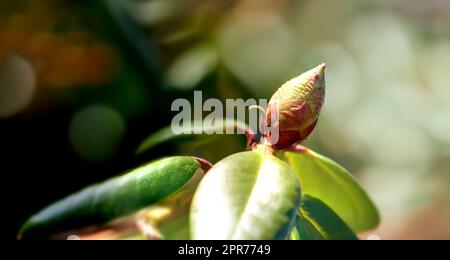
[[[271,143],[274,148],[300,143],[314,130],[325,98],[324,70],[325,64],[321,64],[289,80],[270,99],[266,124],[279,130],[278,140]],[[274,109],[278,109],[278,120],[272,122]]]

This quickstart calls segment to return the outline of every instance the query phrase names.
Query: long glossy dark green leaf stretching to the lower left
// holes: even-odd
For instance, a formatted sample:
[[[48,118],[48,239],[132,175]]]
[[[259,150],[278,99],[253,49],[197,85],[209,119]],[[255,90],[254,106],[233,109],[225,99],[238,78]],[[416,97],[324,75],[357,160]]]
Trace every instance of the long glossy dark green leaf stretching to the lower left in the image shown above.
[[[132,213],[178,191],[199,168],[200,163],[187,156],[151,162],[50,205],[32,216],[19,236],[47,236]]]

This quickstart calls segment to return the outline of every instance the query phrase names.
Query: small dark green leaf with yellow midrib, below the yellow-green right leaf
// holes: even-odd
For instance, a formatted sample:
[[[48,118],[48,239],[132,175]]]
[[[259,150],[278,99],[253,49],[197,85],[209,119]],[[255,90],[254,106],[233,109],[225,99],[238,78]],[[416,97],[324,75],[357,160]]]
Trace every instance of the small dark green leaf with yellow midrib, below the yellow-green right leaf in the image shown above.
[[[302,206],[291,231],[295,240],[357,240],[357,236],[322,201],[308,195],[302,197]]]

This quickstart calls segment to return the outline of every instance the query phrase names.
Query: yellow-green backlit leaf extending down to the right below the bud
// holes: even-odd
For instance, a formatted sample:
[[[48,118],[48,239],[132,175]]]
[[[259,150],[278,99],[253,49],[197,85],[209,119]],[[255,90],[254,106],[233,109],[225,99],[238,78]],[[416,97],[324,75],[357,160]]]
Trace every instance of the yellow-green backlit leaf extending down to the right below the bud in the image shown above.
[[[311,150],[285,155],[300,180],[303,194],[323,201],[355,232],[378,225],[375,205],[342,166]]]

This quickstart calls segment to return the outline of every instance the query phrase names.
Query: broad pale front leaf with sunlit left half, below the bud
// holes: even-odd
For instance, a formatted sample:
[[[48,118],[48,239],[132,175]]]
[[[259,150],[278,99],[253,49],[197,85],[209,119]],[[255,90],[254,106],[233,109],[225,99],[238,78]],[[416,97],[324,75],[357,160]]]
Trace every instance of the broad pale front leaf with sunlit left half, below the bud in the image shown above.
[[[200,182],[191,206],[193,239],[284,239],[300,202],[289,166],[259,151],[233,154]]]

